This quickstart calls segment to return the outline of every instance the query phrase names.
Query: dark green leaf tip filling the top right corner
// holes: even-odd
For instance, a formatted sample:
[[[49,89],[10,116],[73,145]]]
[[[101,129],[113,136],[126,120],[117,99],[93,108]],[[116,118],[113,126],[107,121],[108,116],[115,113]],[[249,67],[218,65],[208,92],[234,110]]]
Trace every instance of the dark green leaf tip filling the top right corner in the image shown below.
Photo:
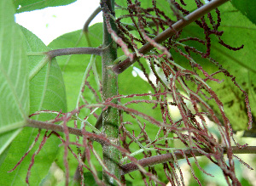
[[[232,0],[231,3],[241,12],[247,16],[256,25],[256,1],[251,0]]]

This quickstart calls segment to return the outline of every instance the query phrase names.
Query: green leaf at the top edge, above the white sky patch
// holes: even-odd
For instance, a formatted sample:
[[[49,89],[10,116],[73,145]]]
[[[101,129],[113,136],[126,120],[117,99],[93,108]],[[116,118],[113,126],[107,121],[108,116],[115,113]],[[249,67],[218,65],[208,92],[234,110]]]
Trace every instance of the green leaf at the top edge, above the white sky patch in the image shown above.
[[[13,3],[15,4],[16,13],[21,13],[47,7],[67,5],[75,1],[76,0],[13,0]]]

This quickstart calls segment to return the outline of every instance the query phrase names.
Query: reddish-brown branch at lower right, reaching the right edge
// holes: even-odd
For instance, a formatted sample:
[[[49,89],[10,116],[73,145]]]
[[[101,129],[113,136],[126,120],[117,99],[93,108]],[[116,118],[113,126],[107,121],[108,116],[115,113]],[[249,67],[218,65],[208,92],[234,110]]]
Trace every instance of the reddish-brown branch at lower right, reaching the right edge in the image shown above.
[[[209,149],[204,148],[202,150],[204,150],[207,153],[210,153]],[[256,154],[256,146],[248,146],[243,149],[233,146],[232,150],[234,154]],[[226,154],[226,151],[224,151],[224,153]],[[183,159],[184,158],[183,154],[186,155],[188,158],[193,157],[192,154],[194,154],[195,156],[202,156],[202,154],[196,149],[184,150],[183,154],[181,151],[176,151],[173,154],[176,156],[176,160]],[[147,167],[147,166],[154,166],[160,163],[173,161],[173,160],[174,160],[173,155],[171,153],[166,153],[164,155],[155,155],[152,157],[144,158],[142,160],[139,160],[138,163],[143,167]],[[131,162],[131,163],[125,164],[124,166],[121,166],[121,169],[122,169],[121,174],[124,175],[129,172],[137,171],[138,166],[135,163]]]

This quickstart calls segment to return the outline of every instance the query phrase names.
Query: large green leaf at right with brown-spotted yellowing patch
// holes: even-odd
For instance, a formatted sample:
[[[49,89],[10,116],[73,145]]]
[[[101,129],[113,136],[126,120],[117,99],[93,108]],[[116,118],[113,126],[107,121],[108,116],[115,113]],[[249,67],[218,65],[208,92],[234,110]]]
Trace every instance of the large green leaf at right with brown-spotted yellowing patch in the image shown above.
[[[218,61],[222,61],[224,68],[229,70],[232,75],[236,76],[236,81],[241,88],[248,93],[253,117],[255,118],[256,82],[254,80],[256,78],[256,65],[253,59],[256,59],[256,25],[253,25],[240,12],[234,12],[235,9],[232,8],[230,3],[226,3],[219,9],[223,12],[220,30],[224,31],[224,36],[222,37],[224,42],[232,47],[240,47],[241,44],[244,44],[244,48],[239,51],[230,51],[215,42],[216,44],[212,48],[212,56]],[[230,12],[232,12],[232,14],[230,14]],[[245,98],[232,82],[230,82],[230,84],[228,85],[230,91],[226,90],[225,94],[222,93],[222,91],[224,91],[222,87],[218,89],[219,94],[225,99],[225,111],[235,130],[247,129],[247,109],[244,104]],[[232,102],[230,103],[229,99],[231,98]]]

